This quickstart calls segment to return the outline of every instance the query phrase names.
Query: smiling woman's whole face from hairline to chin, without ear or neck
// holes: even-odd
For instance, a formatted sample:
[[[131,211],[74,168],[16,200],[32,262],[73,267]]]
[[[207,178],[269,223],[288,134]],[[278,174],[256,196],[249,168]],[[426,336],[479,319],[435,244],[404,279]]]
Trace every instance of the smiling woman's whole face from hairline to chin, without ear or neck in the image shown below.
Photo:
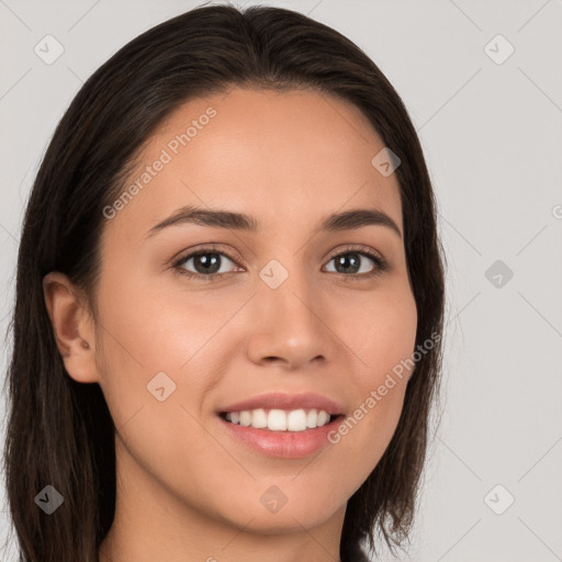
[[[150,137],[128,195],[104,211],[91,346],[138,509],[157,498],[170,517],[251,520],[260,532],[342,518],[396,427],[409,372],[392,387],[387,375],[416,336],[397,179],[372,164],[383,148],[358,109],[313,91],[190,101]],[[187,207],[244,214],[254,228],[191,222],[178,215]],[[352,210],[390,221],[361,213],[322,227]],[[256,398],[257,425],[282,427],[284,413],[269,409],[304,409],[289,416],[294,428],[313,423],[314,397],[268,393],[319,395],[340,416],[283,431],[221,415]]]

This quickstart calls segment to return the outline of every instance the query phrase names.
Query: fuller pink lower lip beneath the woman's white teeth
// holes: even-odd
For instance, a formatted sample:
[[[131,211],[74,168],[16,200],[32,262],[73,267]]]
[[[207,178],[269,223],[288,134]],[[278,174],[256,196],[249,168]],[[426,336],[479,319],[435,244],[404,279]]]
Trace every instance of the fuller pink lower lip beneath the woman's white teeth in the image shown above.
[[[254,451],[258,451],[266,457],[302,459],[318,452],[327,445],[331,445],[328,441],[328,434],[337,429],[344,419],[344,415],[336,416],[325,426],[303,431],[271,431],[270,429],[257,429],[251,426],[233,424],[221,416],[218,416],[218,419],[232,436],[243,441]]]

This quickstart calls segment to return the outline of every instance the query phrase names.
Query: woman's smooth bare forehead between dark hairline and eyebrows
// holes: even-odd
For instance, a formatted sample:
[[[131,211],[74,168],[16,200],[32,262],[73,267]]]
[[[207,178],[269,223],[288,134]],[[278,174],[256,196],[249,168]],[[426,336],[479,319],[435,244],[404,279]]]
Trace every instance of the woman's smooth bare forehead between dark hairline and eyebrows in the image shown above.
[[[110,221],[134,238],[184,205],[256,215],[262,232],[375,207],[402,229],[398,183],[371,164],[384,143],[355,105],[313,90],[235,88],[179,106],[142,150]]]

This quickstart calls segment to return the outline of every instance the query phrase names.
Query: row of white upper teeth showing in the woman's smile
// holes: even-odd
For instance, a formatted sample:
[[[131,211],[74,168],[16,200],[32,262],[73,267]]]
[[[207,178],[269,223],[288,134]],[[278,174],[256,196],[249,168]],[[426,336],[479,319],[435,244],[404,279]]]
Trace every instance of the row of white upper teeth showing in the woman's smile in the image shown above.
[[[256,429],[269,429],[271,431],[304,431],[307,428],[325,426],[330,420],[330,415],[324,409],[245,409],[243,412],[228,412],[226,419],[233,424]]]

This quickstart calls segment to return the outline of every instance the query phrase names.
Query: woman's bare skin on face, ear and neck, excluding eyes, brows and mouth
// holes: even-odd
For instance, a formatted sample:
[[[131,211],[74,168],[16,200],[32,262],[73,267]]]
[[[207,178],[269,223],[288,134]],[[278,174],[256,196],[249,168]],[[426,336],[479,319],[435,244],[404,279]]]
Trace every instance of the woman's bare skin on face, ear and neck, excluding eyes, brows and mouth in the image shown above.
[[[101,386],[117,428],[116,513],[100,561],[334,562],[346,503],[386,449],[412,372],[339,443],[305,459],[246,449],[215,411],[265,392],[316,392],[352,415],[411,357],[404,237],[382,225],[313,234],[330,213],[378,209],[403,235],[397,179],[372,166],[384,144],[353,105],[240,89],[180,106],[148,139],[139,172],[209,106],[216,116],[103,218],[100,324],[65,276],[44,281],[66,369]],[[183,224],[145,238],[187,204],[252,215],[259,231]],[[211,243],[234,258],[220,258],[222,278],[170,265]],[[330,257],[349,245],[380,252],[390,270],[360,279],[378,267],[361,255],[360,272],[338,272]],[[289,273],[276,290],[259,277],[271,259]],[[204,276],[193,259],[182,267]],[[177,385],[164,402],[147,392],[161,371]],[[274,514],[260,502],[271,485],[288,498]]]

